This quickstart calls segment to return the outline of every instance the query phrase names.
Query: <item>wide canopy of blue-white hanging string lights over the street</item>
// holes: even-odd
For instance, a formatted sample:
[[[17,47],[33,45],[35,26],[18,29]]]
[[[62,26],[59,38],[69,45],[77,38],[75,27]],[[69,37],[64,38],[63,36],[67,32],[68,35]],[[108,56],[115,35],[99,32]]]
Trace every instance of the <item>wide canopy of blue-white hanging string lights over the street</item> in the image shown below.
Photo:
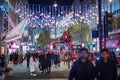
[[[89,4],[59,6],[55,2],[53,5],[21,5],[15,4],[15,13],[20,14],[19,17],[29,17],[32,26],[44,28],[47,26],[54,27],[55,22],[55,8],[57,8],[57,27],[65,27],[74,25],[78,20],[84,20],[89,23],[89,19],[97,17],[97,6],[93,9]],[[22,15],[21,15],[22,14]],[[72,14],[72,16],[69,16]],[[64,24],[64,25],[63,25]]]

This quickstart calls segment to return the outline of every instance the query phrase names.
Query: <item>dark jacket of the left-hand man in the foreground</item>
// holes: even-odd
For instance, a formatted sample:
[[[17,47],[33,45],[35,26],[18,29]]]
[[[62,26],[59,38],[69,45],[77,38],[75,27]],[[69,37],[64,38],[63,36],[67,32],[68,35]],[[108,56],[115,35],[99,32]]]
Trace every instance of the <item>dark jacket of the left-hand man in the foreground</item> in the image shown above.
[[[94,67],[92,63],[87,60],[86,62],[81,62],[81,59],[73,63],[72,69],[70,71],[69,80],[93,80]]]

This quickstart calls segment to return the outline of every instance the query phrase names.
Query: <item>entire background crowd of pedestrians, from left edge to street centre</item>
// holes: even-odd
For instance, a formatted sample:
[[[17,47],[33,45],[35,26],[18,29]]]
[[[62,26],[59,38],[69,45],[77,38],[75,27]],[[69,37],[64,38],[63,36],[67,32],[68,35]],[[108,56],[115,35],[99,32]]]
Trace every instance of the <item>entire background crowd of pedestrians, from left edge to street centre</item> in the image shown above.
[[[43,75],[51,72],[51,65],[55,65],[55,67],[60,66],[59,54],[53,54],[49,51],[27,51],[25,55],[23,55],[20,51],[15,51],[8,56],[8,60],[6,61],[5,54],[0,55],[0,75],[3,75],[1,72],[6,72],[8,64],[16,66],[18,64],[21,65],[23,61],[27,63],[27,68],[29,69],[31,76],[36,76],[36,65]]]

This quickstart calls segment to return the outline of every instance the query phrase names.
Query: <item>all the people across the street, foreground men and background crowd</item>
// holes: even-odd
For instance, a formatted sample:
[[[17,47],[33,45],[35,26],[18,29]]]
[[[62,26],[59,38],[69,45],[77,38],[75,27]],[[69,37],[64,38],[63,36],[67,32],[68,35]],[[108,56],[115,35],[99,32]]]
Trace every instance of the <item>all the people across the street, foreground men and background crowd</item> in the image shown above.
[[[113,53],[113,52],[112,52]],[[117,61],[114,53],[108,49],[103,49],[101,56],[97,60],[93,53],[85,48],[80,49],[77,60],[73,61],[70,70],[69,80],[120,80],[117,76]],[[112,55],[111,55],[112,54]],[[64,56],[65,62],[69,57]],[[36,76],[36,64],[43,75],[51,72],[51,65],[60,66],[60,55],[52,52],[28,51],[25,56],[19,51],[9,55],[10,63],[14,65],[26,61],[27,68],[30,69],[30,75]],[[0,70],[6,68],[5,55],[0,55]],[[36,63],[38,62],[38,63]]]

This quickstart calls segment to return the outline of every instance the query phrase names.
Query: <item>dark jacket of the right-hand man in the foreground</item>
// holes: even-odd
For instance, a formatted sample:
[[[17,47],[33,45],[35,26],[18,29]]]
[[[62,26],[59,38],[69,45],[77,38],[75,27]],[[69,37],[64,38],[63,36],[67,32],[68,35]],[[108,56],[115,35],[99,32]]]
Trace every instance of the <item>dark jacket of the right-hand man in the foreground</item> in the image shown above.
[[[98,80],[116,80],[117,66],[113,60],[108,60],[107,63],[101,58],[96,62],[97,79]]]

